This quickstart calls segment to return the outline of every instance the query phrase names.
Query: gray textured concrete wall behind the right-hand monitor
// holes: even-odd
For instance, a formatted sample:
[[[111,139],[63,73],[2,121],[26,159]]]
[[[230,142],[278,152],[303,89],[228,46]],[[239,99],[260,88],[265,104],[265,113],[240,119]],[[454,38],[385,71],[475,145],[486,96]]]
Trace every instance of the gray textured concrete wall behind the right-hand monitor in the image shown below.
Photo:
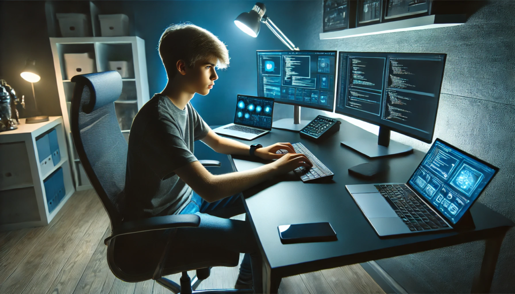
[[[311,12],[302,17],[305,38],[292,40],[301,49],[447,54],[434,138],[447,141],[500,168],[478,201],[515,220],[513,3],[490,1],[461,26],[336,40],[319,39],[322,3],[315,1],[304,5],[312,7],[307,9]],[[271,12],[269,16],[273,16]],[[276,113],[293,113],[290,108],[281,106]],[[311,119],[317,114],[324,112],[302,110],[303,119]],[[431,146],[398,133],[392,133],[391,139],[422,151]],[[410,293],[470,292],[484,248],[484,243],[478,241],[377,263]],[[511,230],[501,249],[491,292],[513,293],[513,281],[515,231]]]

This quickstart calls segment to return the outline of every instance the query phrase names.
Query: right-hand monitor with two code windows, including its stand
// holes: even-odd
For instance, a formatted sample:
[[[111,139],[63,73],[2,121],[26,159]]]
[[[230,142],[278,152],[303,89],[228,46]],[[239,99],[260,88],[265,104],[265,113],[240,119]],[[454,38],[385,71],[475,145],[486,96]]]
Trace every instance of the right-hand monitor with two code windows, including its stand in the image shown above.
[[[335,112],[378,125],[375,140],[342,144],[368,157],[413,150],[394,141],[390,130],[431,143],[445,54],[339,52]]]

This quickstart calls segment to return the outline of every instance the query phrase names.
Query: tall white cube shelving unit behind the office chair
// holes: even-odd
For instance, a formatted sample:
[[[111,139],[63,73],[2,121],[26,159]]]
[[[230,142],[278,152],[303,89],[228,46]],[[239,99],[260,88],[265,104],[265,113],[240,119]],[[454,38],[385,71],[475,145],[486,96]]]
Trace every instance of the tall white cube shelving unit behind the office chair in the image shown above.
[[[122,78],[122,95],[115,101],[116,116],[120,129],[128,139],[134,116],[148,101],[147,63],[145,41],[139,37],[84,37],[84,38],[50,38],[57,89],[64,120],[64,128],[70,148],[70,160],[77,191],[92,188],[85,176],[72,142],[70,128],[70,108],[75,83],[66,76],[64,54],[89,53],[95,59],[94,72],[109,71],[109,61],[128,61],[129,77]]]

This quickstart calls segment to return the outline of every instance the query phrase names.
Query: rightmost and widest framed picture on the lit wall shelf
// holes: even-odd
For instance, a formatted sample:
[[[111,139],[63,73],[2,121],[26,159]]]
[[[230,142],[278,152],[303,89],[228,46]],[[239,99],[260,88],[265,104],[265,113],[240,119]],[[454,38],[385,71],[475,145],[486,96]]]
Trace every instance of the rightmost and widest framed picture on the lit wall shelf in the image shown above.
[[[399,18],[413,18],[428,14],[430,0],[386,0],[385,20],[398,20]]]

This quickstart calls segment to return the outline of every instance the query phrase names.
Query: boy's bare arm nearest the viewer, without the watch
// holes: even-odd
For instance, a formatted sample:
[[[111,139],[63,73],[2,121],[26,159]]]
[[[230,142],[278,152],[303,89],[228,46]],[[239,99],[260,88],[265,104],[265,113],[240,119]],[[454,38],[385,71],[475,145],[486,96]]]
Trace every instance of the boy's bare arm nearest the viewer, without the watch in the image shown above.
[[[260,148],[261,149],[261,148]],[[259,149],[258,149],[259,150]],[[259,184],[274,176],[285,174],[300,166],[311,167],[304,154],[277,154],[281,158],[273,163],[225,175],[212,175],[198,161],[183,165],[175,170],[179,176],[202,199],[214,202]]]

